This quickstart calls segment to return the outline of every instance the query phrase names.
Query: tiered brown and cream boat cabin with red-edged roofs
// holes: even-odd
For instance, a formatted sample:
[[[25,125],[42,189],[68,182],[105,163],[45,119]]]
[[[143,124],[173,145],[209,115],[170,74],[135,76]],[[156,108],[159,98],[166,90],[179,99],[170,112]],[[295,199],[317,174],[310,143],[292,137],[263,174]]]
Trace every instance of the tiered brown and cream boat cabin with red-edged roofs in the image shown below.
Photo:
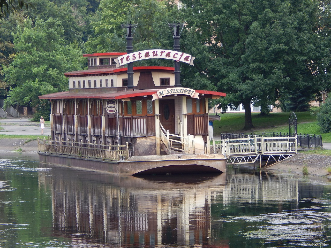
[[[115,62],[123,55],[85,54],[87,70],[65,73],[69,91],[39,97],[51,101],[51,139],[127,142],[130,156],[169,154],[177,140],[177,152],[209,153],[208,99],[225,94],[174,87],[175,69],[164,66],[133,67],[128,87],[127,67]]]

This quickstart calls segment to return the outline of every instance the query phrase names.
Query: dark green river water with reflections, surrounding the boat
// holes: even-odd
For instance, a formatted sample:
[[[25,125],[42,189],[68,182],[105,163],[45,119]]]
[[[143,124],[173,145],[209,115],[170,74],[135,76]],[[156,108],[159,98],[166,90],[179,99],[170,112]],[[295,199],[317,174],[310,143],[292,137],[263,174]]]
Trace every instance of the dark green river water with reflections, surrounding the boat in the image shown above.
[[[0,154],[0,247],[330,247],[331,183],[229,169],[136,178]]]

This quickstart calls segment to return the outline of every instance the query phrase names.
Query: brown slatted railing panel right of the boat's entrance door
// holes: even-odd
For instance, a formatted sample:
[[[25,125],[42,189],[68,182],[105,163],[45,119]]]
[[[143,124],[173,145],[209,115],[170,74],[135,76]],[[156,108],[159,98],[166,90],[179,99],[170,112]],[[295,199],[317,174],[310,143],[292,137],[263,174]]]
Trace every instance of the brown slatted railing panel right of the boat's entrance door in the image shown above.
[[[196,135],[208,135],[208,114],[187,115],[187,123],[193,123],[187,127],[187,132],[194,137]]]

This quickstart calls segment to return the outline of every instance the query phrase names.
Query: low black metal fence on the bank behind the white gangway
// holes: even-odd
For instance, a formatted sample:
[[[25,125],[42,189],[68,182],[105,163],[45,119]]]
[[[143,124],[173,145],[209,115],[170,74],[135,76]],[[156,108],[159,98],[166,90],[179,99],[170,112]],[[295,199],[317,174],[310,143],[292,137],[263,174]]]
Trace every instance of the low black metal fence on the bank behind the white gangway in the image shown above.
[[[241,139],[241,138],[253,138],[257,137],[288,137],[288,133],[277,133],[277,132],[268,132],[268,133],[232,133],[232,134],[221,134],[221,140],[225,139]],[[321,147],[323,148],[322,136],[319,134],[298,134],[298,148],[313,148]]]

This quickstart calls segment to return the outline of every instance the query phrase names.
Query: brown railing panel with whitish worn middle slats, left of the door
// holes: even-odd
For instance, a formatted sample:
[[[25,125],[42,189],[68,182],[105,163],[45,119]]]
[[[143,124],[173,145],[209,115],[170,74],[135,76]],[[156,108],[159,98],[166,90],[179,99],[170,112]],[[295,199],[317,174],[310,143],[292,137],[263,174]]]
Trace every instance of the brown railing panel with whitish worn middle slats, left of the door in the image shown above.
[[[122,116],[121,133],[124,137],[143,137],[155,135],[155,116]]]

